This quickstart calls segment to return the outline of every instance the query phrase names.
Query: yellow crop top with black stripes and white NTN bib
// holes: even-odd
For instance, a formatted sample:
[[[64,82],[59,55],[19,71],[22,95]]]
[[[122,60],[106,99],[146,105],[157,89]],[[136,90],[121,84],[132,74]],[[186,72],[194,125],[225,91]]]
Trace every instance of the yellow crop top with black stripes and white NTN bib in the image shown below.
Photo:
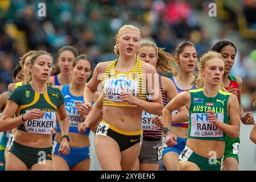
[[[142,61],[137,59],[134,68],[130,72],[116,71],[115,63],[117,63],[117,59],[110,63],[109,67],[106,69],[105,75],[101,78],[104,94],[103,105],[138,108],[137,105],[123,102],[120,98],[120,93],[123,88],[129,90],[134,97],[146,100],[147,86],[142,75]]]

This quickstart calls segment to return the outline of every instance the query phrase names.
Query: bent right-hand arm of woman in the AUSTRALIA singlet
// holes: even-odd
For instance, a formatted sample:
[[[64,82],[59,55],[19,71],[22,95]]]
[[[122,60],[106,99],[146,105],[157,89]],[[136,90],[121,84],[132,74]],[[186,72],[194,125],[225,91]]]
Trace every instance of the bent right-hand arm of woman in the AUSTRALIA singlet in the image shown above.
[[[240,116],[239,116],[239,102],[234,94],[231,94],[228,101],[228,114],[230,118],[230,125],[223,122],[218,122],[217,127],[224,131],[232,138],[238,138],[240,135]]]

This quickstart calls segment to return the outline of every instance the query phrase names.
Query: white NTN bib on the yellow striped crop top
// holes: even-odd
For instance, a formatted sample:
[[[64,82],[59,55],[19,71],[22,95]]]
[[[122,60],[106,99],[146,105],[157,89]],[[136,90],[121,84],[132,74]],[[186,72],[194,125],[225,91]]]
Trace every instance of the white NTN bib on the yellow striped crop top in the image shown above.
[[[137,80],[127,80],[127,75],[120,75],[119,78],[108,78],[105,81],[104,92],[106,100],[121,102],[120,93],[122,88],[128,90],[134,97],[137,97]]]

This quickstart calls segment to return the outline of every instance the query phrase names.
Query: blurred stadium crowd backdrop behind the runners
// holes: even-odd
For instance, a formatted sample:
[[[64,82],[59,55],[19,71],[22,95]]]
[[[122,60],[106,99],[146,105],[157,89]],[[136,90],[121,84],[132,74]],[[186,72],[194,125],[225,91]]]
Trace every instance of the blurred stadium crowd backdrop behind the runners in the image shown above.
[[[46,17],[38,16],[39,3],[45,3]],[[216,4],[217,16],[209,16],[210,3]],[[256,0],[0,0],[0,93],[7,90],[11,70],[23,53],[46,50],[56,59],[57,50],[68,44],[92,57],[95,66],[116,57],[116,32],[123,24],[133,24],[143,39],[152,39],[171,53],[183,40],[193,42],[199,55],[218,40],[234,42],[238,52],[232,75],[243,80],[244,109],[255,110],[255,12]],[[251,126],[245,127],[247,134]],[[255,146],[250,150],[254,168],[242,169],[256,169]]]

